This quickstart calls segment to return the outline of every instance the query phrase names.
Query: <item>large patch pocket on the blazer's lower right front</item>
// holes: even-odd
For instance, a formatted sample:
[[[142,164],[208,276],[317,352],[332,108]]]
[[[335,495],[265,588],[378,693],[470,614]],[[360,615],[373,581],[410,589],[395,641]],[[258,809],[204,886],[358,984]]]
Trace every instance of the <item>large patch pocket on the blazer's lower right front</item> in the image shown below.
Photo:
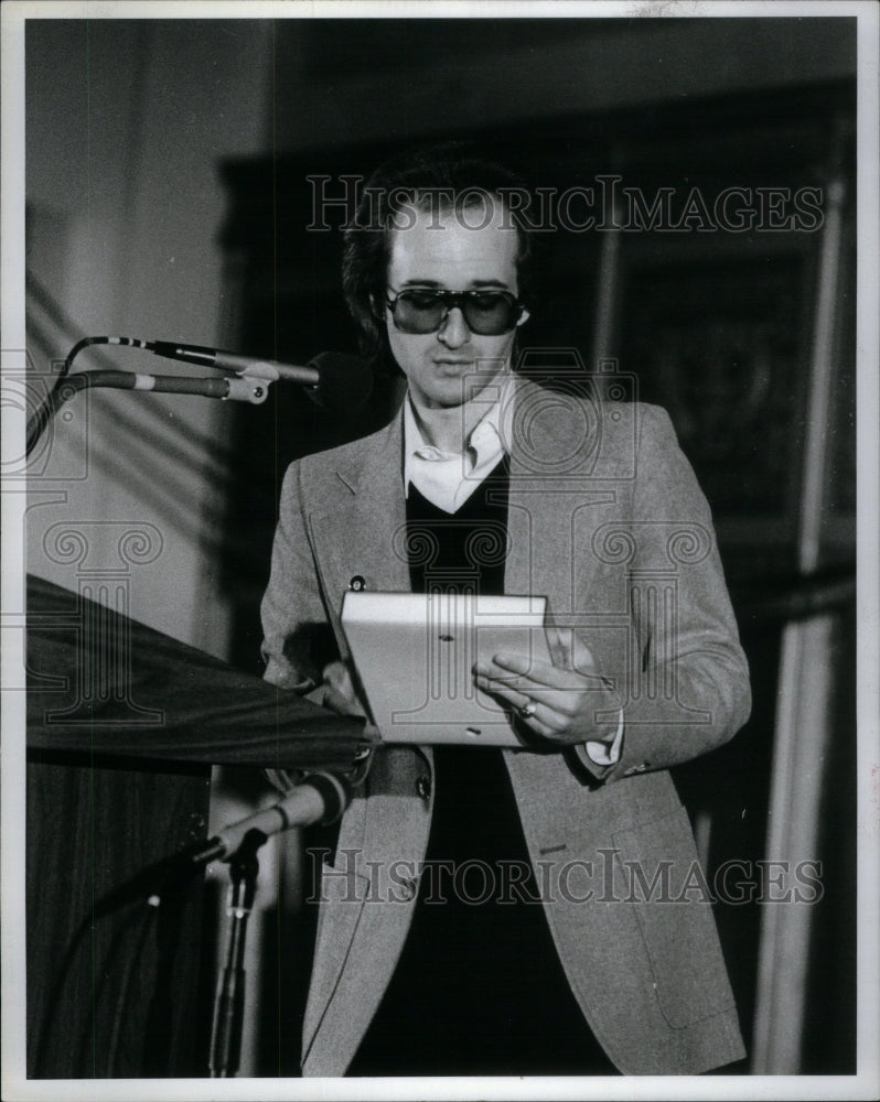
[[[733,1005],[712,896],[687,812],[614,832],[616,860],[635,909],[663,1016],[674,1029]]]

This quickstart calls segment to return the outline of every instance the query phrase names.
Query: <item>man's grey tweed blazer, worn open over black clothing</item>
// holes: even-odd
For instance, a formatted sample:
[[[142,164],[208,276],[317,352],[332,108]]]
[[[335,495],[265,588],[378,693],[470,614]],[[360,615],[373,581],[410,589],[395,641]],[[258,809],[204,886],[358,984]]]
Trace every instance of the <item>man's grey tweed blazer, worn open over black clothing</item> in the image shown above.
[[[615,687],[619,761],[503,752],[571,990],[630,1074],[697,1073],[743,1055],[686,811],[668,768],[730,738],[751,706],[708,505],[666,413],[518,380],[505,592],[549,598]],[[310,637],[352,579],[408,591],[403,418],[293,463],[262,603],[266,677],[320,682]],[[303,1073],[341,1076],[409,928],[432,808],[429,747],[380,747],[321,883]],[[430,1014],[430,992],[414,1013]]]

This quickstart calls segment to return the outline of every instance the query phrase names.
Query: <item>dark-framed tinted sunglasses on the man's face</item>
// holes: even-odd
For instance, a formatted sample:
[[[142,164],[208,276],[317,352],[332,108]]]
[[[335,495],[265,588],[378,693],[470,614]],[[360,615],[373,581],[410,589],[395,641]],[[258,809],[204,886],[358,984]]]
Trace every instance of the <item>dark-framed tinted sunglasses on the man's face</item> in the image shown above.
[[[509,291],[444,291],[412,288],[386,300],[401,333],[436,333],[457,306],[471,333],[500,336],[516,328],[525,306]]]

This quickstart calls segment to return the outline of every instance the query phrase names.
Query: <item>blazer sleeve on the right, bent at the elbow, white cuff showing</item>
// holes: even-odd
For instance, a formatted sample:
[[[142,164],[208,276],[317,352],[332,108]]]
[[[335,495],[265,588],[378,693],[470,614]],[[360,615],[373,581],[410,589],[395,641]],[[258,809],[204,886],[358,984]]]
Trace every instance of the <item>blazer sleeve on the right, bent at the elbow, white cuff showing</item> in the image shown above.
[[[630,647],[615,671],[621,757],[580,763],[601,780],[665,769],[731,738],[751,711],[711,512],[665,410],[641,407],[627,566]],[[602,671],[607,672],[607,671]]]

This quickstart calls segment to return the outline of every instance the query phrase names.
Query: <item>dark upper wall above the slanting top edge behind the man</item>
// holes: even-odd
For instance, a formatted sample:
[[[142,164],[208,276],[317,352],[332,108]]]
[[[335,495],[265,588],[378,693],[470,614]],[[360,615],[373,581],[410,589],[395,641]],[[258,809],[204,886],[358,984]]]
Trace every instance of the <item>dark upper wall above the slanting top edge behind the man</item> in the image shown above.
[[[851,76],[850,21],[334,20],[278,24],[281,149]]]

